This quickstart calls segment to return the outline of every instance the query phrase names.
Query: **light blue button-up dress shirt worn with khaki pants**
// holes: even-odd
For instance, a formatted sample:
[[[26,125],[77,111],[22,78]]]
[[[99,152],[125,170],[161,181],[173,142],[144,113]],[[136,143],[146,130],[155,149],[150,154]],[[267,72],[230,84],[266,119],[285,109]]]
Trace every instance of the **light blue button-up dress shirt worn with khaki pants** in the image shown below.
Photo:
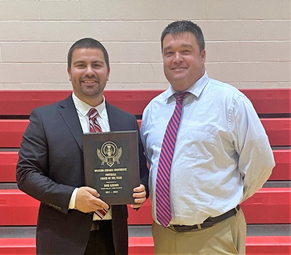
[[[275,166],[266,132],[252,103],[207,73],[187,89],[170,174],[169,224],[194,225],[221,215],[252,196]],[[154,98],[142,115],[141,138],[150,164],[156,219],[156,176],[176,91]]]

